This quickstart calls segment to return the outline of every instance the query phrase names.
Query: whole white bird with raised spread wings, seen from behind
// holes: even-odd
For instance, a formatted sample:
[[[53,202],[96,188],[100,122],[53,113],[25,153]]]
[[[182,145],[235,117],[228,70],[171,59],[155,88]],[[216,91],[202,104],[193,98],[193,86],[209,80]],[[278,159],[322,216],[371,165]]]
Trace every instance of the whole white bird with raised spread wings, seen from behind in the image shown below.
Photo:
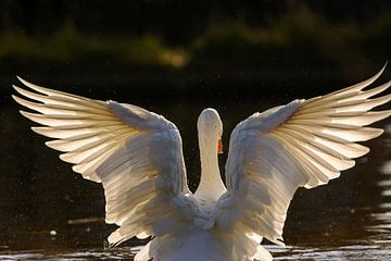
[[[201,181],[194,194],[187,185],[179,130],[164,116],[20,77],[24,88],[13,86],[18,94],[13,99],[35,111],[21,113],[43,125],[31,128],[53,139],[46,145],[63,152],[61,160],[103,185],[105,222],[118,226],[108,238],[110,247],[151,237],[136,261],[268,261],[273,258],[261,240],[283,245],[295,190],[337,178],[369,151],[357,141],[383,132],[366,126],[391,115],[390,110],[371,111],[390,101],[390,95],[377,95],[391,80],[365,88],[384,67],[360,84],[240,122],[230,135],[226,185],[217,164],[223,124],[216,110],[203,110],[197,124]]]

